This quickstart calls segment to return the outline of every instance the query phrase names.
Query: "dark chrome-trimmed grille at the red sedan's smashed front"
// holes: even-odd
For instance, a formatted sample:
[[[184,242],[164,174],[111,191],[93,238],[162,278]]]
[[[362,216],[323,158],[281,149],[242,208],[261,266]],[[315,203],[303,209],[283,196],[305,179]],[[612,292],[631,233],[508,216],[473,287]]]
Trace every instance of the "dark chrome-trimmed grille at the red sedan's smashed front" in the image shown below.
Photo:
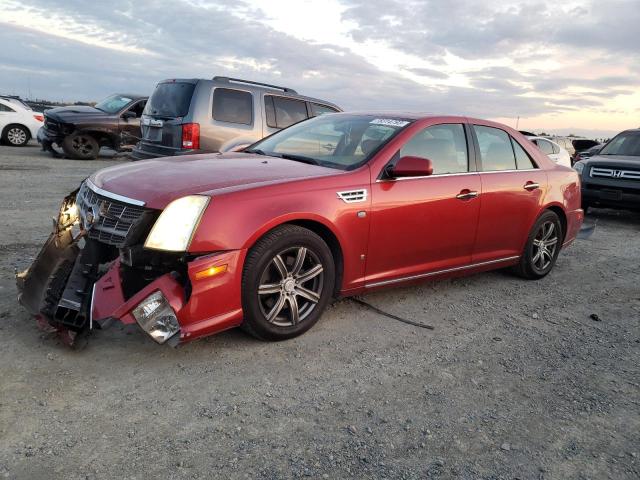
[[[88,182],[80,186],[76,205],[89,238],[118,248],[127,244],[144,208],[100,195]]]

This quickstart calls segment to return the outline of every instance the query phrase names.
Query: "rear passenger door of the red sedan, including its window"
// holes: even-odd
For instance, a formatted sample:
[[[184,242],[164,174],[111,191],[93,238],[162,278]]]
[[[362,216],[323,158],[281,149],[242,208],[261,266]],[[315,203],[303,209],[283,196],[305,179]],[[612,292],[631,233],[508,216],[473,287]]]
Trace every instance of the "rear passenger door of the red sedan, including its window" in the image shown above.
[[[509,133],[473,125],[482,198],[473,263],[518,257],[540,211],[546,172]]]

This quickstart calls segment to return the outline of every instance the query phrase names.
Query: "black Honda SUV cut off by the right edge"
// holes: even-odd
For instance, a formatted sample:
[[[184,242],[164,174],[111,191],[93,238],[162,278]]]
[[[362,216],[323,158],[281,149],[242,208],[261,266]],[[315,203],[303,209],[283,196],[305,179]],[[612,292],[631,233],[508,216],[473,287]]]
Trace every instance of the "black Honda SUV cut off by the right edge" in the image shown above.
[[[625,130],[600,152],[576,162],[582,180],[582,208],[640,209],[640,129]]]

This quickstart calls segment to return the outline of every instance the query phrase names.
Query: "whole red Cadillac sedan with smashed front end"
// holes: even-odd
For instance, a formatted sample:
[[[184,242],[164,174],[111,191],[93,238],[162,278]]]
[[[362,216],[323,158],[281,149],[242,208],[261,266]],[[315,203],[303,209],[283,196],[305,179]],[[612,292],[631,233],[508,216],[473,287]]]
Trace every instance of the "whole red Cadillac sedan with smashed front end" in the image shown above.
[[[281,340],[335,296],[505,267],[542,278],[582,220],[576,172],[507,126],[329,114],[244,152],[93,174],[18,286],[68,339],[120,321],[169,345],[237,326]]]

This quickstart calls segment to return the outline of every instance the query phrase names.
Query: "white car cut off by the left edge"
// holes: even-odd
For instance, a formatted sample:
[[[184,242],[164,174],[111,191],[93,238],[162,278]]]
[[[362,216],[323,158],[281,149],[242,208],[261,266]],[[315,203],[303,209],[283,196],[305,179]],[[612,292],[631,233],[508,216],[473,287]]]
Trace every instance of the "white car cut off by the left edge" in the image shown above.
[[[36,138],[43,125],[44,115],[34,112],[22,100],[0,96],[0,138],[3,142],[22,147],[29,139]]]

